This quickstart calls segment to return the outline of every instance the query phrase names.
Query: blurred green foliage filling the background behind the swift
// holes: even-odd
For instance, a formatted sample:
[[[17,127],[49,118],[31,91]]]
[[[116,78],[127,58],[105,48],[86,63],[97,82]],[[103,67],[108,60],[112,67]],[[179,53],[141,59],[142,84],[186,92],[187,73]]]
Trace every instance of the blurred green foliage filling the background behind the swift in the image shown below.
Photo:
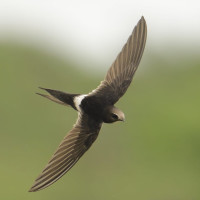
[[[117,104],[126,122],[105,124],[70,172],[28,193],[77,117],[35,95],[37,87],[87,93],[105,73],[87,74],[48,53],[1,44],[0,199],[200,199],[200,60],[168,63],[145,54]]]

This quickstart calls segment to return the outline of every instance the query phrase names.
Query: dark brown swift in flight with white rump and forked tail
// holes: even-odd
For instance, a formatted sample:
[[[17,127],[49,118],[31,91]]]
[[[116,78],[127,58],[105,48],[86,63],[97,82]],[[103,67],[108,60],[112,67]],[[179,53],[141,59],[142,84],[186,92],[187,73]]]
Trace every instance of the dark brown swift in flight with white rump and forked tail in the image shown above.
[[[104,80],[88,94],[69,94],[40,87],[47,94],[37,94],[56,103],[71,106],[77,111],[78,119],[29,192],[50,186],[68,172],[97,139],[103,123],[125,120],[124,113],[115,107],[115,103],[132,82],[144,52],[146,38],[147,25],[142,16]]]

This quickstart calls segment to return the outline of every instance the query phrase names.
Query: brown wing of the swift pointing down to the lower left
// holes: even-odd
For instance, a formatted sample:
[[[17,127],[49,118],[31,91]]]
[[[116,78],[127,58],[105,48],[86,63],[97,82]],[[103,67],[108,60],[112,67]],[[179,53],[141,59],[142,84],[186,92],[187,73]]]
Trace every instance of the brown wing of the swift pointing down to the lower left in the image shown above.
[[[101,122],[79,113],[73,129],[65,136],[51,160],[35,180],[30,192],[41,190],[69,171],[96,140]]]

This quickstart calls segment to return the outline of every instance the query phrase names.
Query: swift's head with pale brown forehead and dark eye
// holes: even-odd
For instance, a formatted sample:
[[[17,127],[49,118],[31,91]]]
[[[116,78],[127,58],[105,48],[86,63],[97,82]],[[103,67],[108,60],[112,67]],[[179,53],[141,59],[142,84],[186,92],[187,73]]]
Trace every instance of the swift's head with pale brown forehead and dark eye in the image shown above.
[[[104,113],[104,122],[106,123],[113,123],[113,122],[116,122],[116,121],[125,121],[125,115],[124,113],[112,106],[112,107],[109,107],[108,109],[106,109],[105,113]]]

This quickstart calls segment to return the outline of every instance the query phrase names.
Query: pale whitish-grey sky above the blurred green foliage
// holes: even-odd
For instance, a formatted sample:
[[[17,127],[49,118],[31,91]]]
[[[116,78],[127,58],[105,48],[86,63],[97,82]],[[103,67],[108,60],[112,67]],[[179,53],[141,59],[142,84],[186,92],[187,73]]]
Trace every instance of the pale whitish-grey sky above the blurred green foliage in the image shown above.
[[[199,0],[0,0],[0,38],[48,46],[64,56],[70,47],[72,54],[101,62],[116,56],[142,15],[148,45],[200,46],[199,10]]]

